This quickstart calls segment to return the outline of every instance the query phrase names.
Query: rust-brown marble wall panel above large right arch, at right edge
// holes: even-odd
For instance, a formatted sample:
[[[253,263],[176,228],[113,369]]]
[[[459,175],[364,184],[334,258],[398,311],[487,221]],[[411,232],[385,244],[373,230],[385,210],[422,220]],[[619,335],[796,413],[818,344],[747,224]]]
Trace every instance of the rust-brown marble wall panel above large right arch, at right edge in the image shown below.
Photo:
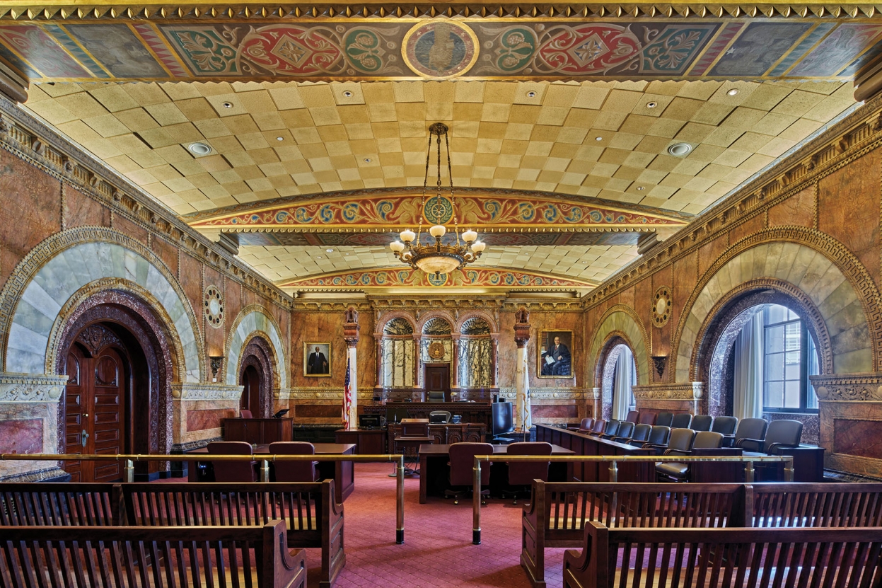
[[[879,181],[876,149],[818,182],[818,229],[861,260],[879,287]]]

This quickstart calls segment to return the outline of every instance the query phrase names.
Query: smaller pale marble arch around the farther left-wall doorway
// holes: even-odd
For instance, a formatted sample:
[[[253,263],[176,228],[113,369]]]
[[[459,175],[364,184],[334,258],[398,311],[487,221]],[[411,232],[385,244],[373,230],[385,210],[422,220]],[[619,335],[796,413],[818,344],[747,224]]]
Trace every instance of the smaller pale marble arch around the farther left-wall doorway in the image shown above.
[[[285,361],[285,345],[281,342],[281,329],[275,319],[261,305],[245,306],[233,320],[227,335],[224,349],[227,351],[228,386],[239,384],[239,363],[243,358],[245,346],[255,336],[260,336],[270,343],[273,362],[273,390],[288,387],[288,362]]]

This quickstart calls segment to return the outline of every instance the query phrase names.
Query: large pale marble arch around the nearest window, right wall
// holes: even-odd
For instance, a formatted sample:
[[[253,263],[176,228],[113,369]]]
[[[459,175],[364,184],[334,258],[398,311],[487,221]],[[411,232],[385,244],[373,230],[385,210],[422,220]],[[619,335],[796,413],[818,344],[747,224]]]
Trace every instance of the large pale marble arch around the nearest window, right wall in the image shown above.
[[[844,245],[817,230],[783,227],[760,231],[729,247],[702,276],[684,305],[674,336],[675,381],[699,375],[699,335],[708,316],[740,284],[772,279],[794,289],[818,309],[833,348],[833,373],[878,369],[878,290]],[[818,342],[822,343],[822,342]],[[818,350],[821,352],[820,350]]]

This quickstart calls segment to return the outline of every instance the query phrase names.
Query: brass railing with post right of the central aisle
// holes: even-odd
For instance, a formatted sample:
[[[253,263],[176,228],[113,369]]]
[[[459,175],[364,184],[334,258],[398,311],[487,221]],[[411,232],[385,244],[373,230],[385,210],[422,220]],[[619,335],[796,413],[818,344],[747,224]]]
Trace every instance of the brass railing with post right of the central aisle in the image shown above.
[[[747,483],[753,481],[755,462],[784,463],[784,481],[793,481],[793,456],[506,456],[496,454],[492,456],[475,456],[475,478],[472,489],[472,543],[481,545],[481,463],[482,462],[609,462],[609,481],[618,481],[618,464],[620,462],[742,462],[744,463],[744,479]],[[676,485],[671,484],[674,489]]]

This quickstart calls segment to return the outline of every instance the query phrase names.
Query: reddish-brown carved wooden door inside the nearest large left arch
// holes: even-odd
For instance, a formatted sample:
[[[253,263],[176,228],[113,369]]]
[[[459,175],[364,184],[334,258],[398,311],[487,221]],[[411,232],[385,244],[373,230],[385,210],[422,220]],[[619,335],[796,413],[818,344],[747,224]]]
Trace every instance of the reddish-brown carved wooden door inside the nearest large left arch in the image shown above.
[[[67,356],[64,395],[65,453],[125,453],[125,370],[122,356],[105,348],[93,358],[77,345]],[[119,462],[67,462],[72,482],[123,479]]]

